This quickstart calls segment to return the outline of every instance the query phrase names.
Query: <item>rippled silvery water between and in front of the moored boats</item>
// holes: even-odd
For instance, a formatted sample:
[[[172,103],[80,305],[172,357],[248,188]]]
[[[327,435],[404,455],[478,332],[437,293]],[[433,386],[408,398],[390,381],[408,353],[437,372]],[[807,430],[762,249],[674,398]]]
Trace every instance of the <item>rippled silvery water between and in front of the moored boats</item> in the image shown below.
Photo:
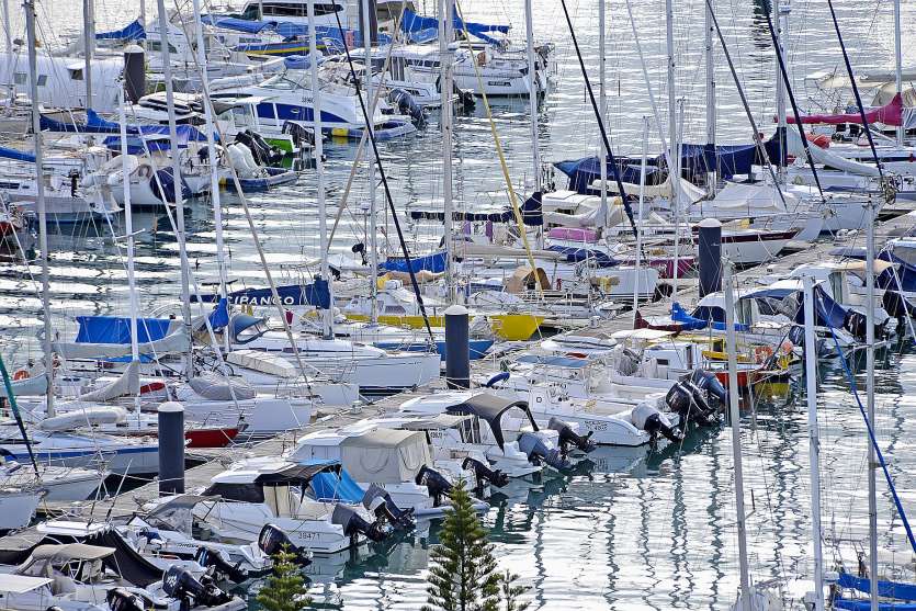
[[[152,2],[147,2],[152,4]],[[432,2],[429,11],[432,11]],[[891,66],[893,30],[890,2],[836,2],[853,65]],[[581,157],[597,151],[595,121],[585,95],[556,1],[535,0],[535,27],[540,39],[556,44],[557,86],[540,110],[538,146],[544,160]],[[597,1],[568,2],[577,34],[597,84]],[[665,106],[663,2],[634,2],[652,86]],[[685,99],[685,134],[689,142],[704,138],[704,77],[702,67],[703,2],[676,3],[678,95]],[[45,2],[39,7],[39,37],[48,45],[80,26],[80,2]],[[138,0],[97,0],[98,29],[120,27],[134,19]],[[717,16],[730,41],[733,57],[757,121],[770,128],[773,108],[772,50],[766,22],[756,3],[717,2]],[[523,36],[522,2],[465,0],[468,19],[512,23]],[[912,41],[914,9],[904,5],[905,41]],[[804,77],[818,70],[841,70],[841,57],[822,0],[793,7],[789,56],[796,97],[806,108],[822,100]],[[618,152],[638,155],[643,115],[651,115],[626,5],[608,2],[608,93],[613,146]],[[22,35],[22,32],[14,35]],[[904,45],[905,53],[916,53]],[[721,55],[719,56],[721,59]],[[738,106],[724,66],[716,72],[721,142],[749,142],[749,127]],[[530,181],[531,142],[523,103],[495,103],[496,123],[506,149],[512,180]],[[664,118],[663,118],[664,121]],[[666,128],[663,126],[663,128]],[[651,133],[651,150],[658,138]],[[403,140],[383,145],[395,205],[399,210],[441,203],[441,139],[436,121]],[[354,148],[337,144],[326,149],[331,215],[347,181]],[[456,120],[454,139],[455,194],[462,206],[488,202],[488,192],[502,188],[482,109]],[[562,181],[561,181],[562,182]],[[381,196],[381,192],[380,192]],[[315,178],[303,173],[294,186],[252,195],[250,204],[261,241],[275,264],[303,263],[317,254]],[[336,251],[365,239],[364,204],[369,188],[359,174],[350,207],[341,215],[333,242]],[[224,197],[225,236],[230,251],[231,275],[260,284],[253,242],[237,200]],[[173,301],[179,291],[179,264],[173,234],[165,218],[138,215],[144,229],[138,248],[138,282],[144,312]],[[195,278],[214,275],[214,226],[207,202],[192,204],[188,218],[189,250]],[[115,227],[118,231],[121,228]],[[416,251],[438,242],[429,229],[408,227]],[[82,226],[55,230],[52,246],[54,326],[72,332],[72,317],[84,314],[127,313],[126,273],[113,248],[111,229]],[[393,233],[392,233],[393,235]],[[382,238],[384,240],[384,237]],[[37,267],[21,262],[0,264],[0,336],[4,358],[21,363],[37,355],[34,332],[39,325]],[[295,273],[283,268],[283,274]],[[877,430],[904,502],[914,499],[911,351],[886,355],[878,373],[880,418]],[[824,472],[824,524],[828,532],[861,536],[866,527],[864,427],[836,364],[823,372],[821,425]],[[861,384],[863,380],[859,380]],[[753,509],[748,534],[755,579],[804,576],[810,573],[808,469],[806,416],[794,389],[773,405],[760,405],[756,426],[748,416],[742,444],[748,507]],[[727,430],[694,433],[680,449],[658,454],[603,451],[595,456],[596,471],[551,479],[543,486],[509,489],[495,502],[485,521],[491,530],[500,565],[521,575],[531,588],[533,609],[722,609],[734,600],[737,585],[737,543],[734,525],[731,435]],[[891,518],[886,487],[882,494],[882,545],[904,550],[906,541],[898,519]],[[425,600],[428,547],[436,531],[420,533],[389,550],[361,550],[354,556],[319,563],[313,596],[327,608],[417,609]],[[318,570],[318,568],[316,568]]]

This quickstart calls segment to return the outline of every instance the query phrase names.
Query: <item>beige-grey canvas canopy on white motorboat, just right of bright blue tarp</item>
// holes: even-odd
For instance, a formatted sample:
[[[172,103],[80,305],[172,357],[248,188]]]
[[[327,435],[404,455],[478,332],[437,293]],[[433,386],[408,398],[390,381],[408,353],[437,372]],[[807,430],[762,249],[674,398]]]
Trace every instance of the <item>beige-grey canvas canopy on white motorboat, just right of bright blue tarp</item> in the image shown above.
[[[357,482],[411,482],[423,465],[432,464],[429,442],[420,431],[375,429],[340,443],[340,462]]]

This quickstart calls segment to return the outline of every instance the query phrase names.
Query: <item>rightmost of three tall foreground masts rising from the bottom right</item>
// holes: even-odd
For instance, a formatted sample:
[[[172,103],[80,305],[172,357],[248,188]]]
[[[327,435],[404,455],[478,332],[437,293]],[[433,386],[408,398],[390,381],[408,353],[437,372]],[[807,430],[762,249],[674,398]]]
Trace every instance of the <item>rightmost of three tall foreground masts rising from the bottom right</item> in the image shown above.
[[[874,429],[874,203],[866,206],[866,406]],[[878,611],[878,456],[869,444],[869,577],[871,611]]]

